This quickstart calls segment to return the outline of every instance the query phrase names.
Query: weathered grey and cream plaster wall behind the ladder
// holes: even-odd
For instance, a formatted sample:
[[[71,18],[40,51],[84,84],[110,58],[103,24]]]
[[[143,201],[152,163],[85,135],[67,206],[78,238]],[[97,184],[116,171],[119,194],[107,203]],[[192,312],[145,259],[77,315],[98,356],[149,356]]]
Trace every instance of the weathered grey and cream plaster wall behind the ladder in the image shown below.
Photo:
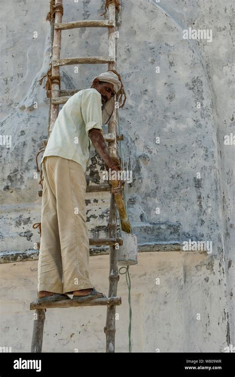
[[[63,22],[104,19],[100,16],[104,4],[104,0],[64,0]],[[39,80],[51,61],[51,28],[45,20],[49,1],[9,0],[2,1],[1,7],[0,134],[1,144],[2,135],[11,136],[11,146],[0,146],[0,251],[10,259],[15,253],[33,251],[40,239],[32,228],[40,221],[41,211],[39,179],[34,174],[35,156],[48,128],[49,99],[45,80],[43,85]],[[127,96],[118,112],[124,135],[119,144],[123,161],[132,170],[133,181],[125,185],[125,196],[138,243],[182,244],[191,239],[213,245],[212,253],[206,255],[139,253],[139,264],[130,268],[133,350],[224,352],[227,345],[235,345],[235,146],[225,144],[226,135],[235,132],[233,2],[122,0],[118,21],[117,70]],[[212,40],[183,39],[183,31],[190,27],[208,30]],[[92,28],[62,31],[60,56],[108,54],[107,35],[107,30]],[[89,88],[92,79],[105,70],[106,64],[82,64],[78,73],[72,65],[63,66],[61,89]],[[99,183],[103,168],[93,149],[87,183]],[[109,195],[87,194],[86,204],[90,236],[106,236]],[[108,263],[107,256],[92,257],[90,263],[94,282],[105,292]],[[2,264],[0,272],[3,346],[27,352],[33,313],[25,315],[25,310],[35,299],[37,262]],[[127,352],[124,278],[118,294],[125,300],[118,308],[117,349],[122,352],[126,347]],[[85,321],[87,309],[81,310]],[[83,328],[82,352],[96,347],[103,352],[106,311],[89,310],[89,336],[85,336],[83,317],[77,323],[74,311],[66,309],[72,329],[61,313],[48,311],[52,337],[57,333],[66,340],[55,345],[47,336],[44,350],[64,352],[69,344],[65,352],[73,352],[72,347],[77,347],[69,334]],[[19,332],[13,336],[15,322]]]

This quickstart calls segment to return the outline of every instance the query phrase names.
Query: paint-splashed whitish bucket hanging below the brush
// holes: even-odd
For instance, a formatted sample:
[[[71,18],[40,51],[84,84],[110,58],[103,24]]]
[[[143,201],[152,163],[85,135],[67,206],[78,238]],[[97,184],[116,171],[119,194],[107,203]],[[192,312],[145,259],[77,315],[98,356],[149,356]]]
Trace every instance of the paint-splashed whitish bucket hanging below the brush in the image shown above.
[[[118,249],[118,265],[130,266],[136,265],[137,262],[137,237],[132,233],[120,232],[120,237],[123,239],[123,245],[119,245]]]

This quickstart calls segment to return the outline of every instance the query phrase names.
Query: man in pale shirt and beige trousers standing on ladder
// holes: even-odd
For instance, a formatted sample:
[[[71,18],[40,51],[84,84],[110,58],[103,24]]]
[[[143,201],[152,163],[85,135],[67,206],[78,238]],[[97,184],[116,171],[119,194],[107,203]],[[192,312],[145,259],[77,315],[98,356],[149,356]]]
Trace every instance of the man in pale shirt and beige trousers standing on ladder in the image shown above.
[[[106,297],[89,279],[89,237],[86,225],[85,172],[90,139],[112,170],[118,170],[108,153],[102,124],[114,110],[118,76],[107,71],[95,77],[90,89],[74,94],[59,111],[42,159],[42,237],[38,262],[38,303]],[[123,190],[119,180],[116,194]]]

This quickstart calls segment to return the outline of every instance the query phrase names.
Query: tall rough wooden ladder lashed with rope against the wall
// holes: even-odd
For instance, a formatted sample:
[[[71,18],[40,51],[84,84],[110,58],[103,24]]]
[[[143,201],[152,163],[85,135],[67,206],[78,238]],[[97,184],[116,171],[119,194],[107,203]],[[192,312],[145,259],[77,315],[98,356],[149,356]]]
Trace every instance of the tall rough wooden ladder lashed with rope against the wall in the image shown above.
[[[77,21],[62,23],[62,0],[55,0],[55,22],[53,54],[52,54],[52,77],[59,76],[59,67],[69,64],[97,64],[108,63],[109,69],[116,69],[116,7],[114,3],[108,6],[109,20],[97,21]],[[107,56],[84,56],[60,59],[61,30],[74,29],[80,27],[107,27],[109,33],[109,55]],[[50,111],[50,128],[49,136],[55,125],[55,121],[59,114],[59,105],[65,104],[69,96],[77,93],[79,90],[60,90],[58,81],[52,81],[51,95],[51,111]],[[117,102],[115,96],[115,102]],[[117,158],[117,140],[123,140],[123,135],[117,136],[117,109],[114,108],[113,115],[108,123],[108,134],[104,134],[105,140],[108,142],[108,151],[111,157]],[[44,146],[47,141],[44,141]],[[86,192],[111,192],[111,185],[91,185],[87,186]],[[42,196],[42,190],[39,191]],[[115,206],[114,195],[111,194],[110,215],[109,215],[109,238],[90,238],[90,245],[109,245],[110,246],[110,272],[109,272],[109,296],[107,298],[93,299],[87,302],[75,302],[73,300],[61,300],[48,304],[30,303],[30,310],[36,310],[34,315],[34,326],[31,352],[42,352],[43,331],[45,322],[45,313],[47,308],[68,308],[77,306],[107,306],[107,318],[104,332],[106,334],[106,352],[115,352],[115,315],[116,306],[121,305],[121,297],[117,297],[117,282],[119,280],[117,266],[117,249],[116,245],[122,245],[122,238],[117,238],[117,210]]]

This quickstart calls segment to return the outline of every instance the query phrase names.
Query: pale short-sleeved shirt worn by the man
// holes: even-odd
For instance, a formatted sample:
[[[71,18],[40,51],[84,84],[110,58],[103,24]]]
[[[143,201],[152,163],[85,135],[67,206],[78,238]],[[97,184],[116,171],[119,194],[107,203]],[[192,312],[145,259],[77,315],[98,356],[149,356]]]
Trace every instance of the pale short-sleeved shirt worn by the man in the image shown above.
[[[101,107],[101,94],[94,88],[83,89],[69,98],[59,111],[42,162],[46,156],[63,157],[80,163],[85,173],[91,146],[88,132],[92,128],[103,132]]]

